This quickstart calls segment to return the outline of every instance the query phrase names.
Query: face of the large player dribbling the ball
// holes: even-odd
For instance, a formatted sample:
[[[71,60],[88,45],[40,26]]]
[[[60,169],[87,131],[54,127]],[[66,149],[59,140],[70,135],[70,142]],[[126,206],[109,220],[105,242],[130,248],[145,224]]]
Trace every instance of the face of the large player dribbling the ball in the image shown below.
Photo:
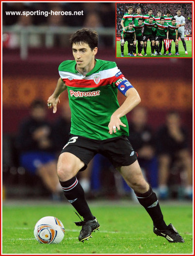
[[[76,61],[77,68],[85,69],[88,67],[90,69],[90,67],[93,66],[97,47],[91,50],[89,45],[85,42],[78,42],[72,45],[72,53]]]

